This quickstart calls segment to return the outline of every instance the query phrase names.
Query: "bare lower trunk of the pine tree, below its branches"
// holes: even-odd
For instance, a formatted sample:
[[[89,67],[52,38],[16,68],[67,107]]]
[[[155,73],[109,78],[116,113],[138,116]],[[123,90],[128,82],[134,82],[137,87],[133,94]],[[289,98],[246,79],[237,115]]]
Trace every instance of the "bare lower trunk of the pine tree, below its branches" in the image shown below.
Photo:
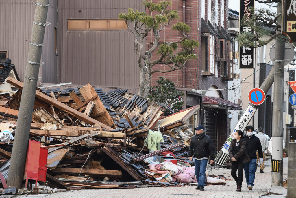
[[[148,66],[148,68],[150,68]],[[149,69],[145,66],[141,66],[140,68],[140,86],[138,95],[142,98],[147,98],[149,94],[151,75]]]

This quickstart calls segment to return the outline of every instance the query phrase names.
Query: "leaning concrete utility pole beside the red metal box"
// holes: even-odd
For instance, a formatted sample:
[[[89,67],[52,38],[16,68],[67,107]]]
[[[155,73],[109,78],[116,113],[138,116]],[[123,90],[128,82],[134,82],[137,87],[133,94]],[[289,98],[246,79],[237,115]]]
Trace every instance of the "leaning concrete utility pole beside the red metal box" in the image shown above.
[[[20,111],[17,119],[15,140],[12,147],[7,185],[17,186],[18,189],[22,188],[27,158],[48,6],[49,0],[37,0],[25,71],[24,87],[20,101]]]

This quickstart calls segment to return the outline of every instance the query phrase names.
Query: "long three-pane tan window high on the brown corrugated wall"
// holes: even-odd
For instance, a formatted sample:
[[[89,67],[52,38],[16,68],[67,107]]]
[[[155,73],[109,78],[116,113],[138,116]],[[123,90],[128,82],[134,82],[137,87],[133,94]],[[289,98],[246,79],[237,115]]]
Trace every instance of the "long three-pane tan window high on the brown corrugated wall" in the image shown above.
[[[68,19],[68,30],[127,30],[120,19]]]

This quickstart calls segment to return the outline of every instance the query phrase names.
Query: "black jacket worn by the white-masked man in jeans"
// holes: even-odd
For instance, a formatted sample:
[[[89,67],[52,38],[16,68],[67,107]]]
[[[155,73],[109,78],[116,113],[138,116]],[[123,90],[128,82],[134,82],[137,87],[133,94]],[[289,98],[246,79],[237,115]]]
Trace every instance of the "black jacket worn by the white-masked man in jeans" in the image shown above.
[[[246,152],[249,155],[250,159],[256,159],[256,151],[258,150],[258,154],[260,158],[263,158],[262,146],[259,138],[252,134],[251,137],[248,137],[247,134],[244,135],[244,140],[246,140]]]

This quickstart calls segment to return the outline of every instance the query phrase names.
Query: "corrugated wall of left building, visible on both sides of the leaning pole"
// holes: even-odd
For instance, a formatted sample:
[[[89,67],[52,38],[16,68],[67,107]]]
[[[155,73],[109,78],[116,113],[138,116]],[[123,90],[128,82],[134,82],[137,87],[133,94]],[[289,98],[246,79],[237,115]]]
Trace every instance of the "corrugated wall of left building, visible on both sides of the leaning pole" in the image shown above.
[[[8,51],[8,58],[15,64],[17,73],[24,80],[26,61],[29,52],[33,18],[36,6],[30,0],[0,1],[0,51]],[[49,1],[44,47],[41,61],[46,62],[40,68],[39,77],[48,83],[57,82],[57,56],[54,56],[54,25],[57,25],[57,0]],[[41,71],[42,69],[42,71]],[[50,75],[49,75],[50,74]]]

